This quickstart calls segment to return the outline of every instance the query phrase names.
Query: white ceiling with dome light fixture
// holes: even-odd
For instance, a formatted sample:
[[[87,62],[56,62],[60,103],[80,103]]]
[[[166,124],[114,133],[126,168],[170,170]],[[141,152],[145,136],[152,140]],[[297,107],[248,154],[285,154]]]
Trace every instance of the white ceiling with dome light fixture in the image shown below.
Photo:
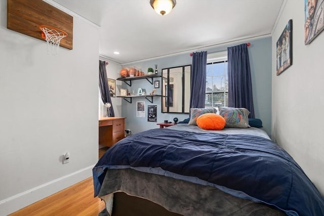
[[[100,26],[99,55],[119,64],[270,35],[284,2],[177,0],[161,16],[149,0],[53,1]]]

